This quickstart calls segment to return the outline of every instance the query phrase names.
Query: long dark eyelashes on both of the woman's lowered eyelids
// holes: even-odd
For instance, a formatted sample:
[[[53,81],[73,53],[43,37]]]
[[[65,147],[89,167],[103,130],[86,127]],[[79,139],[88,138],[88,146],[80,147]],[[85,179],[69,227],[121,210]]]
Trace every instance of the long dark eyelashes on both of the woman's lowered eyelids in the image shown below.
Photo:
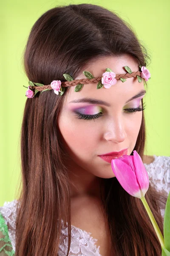
[[[134,114],[137,111],[144,111],[145,108],[146,108],[146,105],[144,102],[143,106],[140,105],[138,108],[127,108],[126,111],[129,114]],[[77,115],[77,117],[76,117],[77,119],[85,119],[85,120],[97,119],[100,116],[103,116],[102,113],[97,113],[96,115],[84,115],[84,114],[76,113],[76,115]]]

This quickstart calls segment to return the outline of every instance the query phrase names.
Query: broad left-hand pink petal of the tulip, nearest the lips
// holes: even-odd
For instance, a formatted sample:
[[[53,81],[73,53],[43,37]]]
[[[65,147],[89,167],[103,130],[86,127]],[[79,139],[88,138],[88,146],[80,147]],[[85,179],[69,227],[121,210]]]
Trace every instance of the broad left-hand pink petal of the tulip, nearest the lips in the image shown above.
[[[133,172],[132,168],[127,163],[119,160],[118,158],[111,160],[111,167],[117,180],[119,181],[121,186],[127,191],[127,193],[134,197],[141,198],[142,194],[139,189],[139,183],[136,179],[136,174],[135,172]]]

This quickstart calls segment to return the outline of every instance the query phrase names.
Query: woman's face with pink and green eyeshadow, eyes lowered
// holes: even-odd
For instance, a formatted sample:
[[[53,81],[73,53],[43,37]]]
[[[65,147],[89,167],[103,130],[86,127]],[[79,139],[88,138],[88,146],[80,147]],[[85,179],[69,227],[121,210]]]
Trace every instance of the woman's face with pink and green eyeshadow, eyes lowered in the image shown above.
[[[83,71],[89,71],[94,77],[100,77],[106,68],[111,68],[116,74],[126,73],[124,66],[133,71],[139,67],[132,57],[100,58]],[[85,78],[82,73],[75,79]],[[127,78],[123,83],[120,79],[109,89],[96,89],[97,83],[84,84],[82,90],[74,92],[75,86],[65,98],[62,111],[59,115],[58,128],[62,134],[62,143],[65,151],[71,157],[68,165],[71,171],[85,172],[96,177],[115,177],[111,163],[103,160],[99,155],[111,151],[127,149],[130,155],[135,147],[142,122],[142,111],[128,113],[128,108],[138,108],[142,105],[142,96],[130,100],[144,90],[144,81],[139,83],[137,77]],[[103,103],[87,103],[72,101],[88,98],[89,100],[103,101]],[[128,102],[129,101],[129,102]],[[127,102],[127,103],[126,103]],[[79,119],[82,115],[99,116],[96,119]]]

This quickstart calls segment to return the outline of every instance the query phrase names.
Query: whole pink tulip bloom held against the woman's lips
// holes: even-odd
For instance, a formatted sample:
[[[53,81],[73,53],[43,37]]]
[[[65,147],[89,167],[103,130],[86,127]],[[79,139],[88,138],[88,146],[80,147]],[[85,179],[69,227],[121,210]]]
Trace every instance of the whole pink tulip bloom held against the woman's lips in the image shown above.
[[[133,151],[133,156],[123,155],[112,159],[111,167],[121,186],[130,195],[142,198],[149,188],[149,177],[141,157]]]

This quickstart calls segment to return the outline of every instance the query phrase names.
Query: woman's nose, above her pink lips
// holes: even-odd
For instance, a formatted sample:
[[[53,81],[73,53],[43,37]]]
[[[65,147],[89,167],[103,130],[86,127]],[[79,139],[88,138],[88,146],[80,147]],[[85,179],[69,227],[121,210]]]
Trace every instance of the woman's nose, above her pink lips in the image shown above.
[[[107,122],[105,124],[105,131],[103,137],[105,140],[113,141],[115,143],[123,142],[127,137],[123,120],[112,119]]]

